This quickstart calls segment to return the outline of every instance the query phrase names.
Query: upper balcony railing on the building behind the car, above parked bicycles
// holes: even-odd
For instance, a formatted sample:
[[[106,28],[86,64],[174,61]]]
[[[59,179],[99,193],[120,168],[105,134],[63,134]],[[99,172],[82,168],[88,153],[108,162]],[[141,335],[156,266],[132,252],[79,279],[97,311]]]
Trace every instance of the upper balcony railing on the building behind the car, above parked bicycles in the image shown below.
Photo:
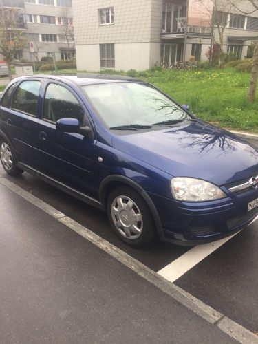
[[[211,34],[211,25],[209,25],[208,20],[189,17],[187,22],[186,30],[186,17],[163,19],[161,34],[180,34],[184,32]]]

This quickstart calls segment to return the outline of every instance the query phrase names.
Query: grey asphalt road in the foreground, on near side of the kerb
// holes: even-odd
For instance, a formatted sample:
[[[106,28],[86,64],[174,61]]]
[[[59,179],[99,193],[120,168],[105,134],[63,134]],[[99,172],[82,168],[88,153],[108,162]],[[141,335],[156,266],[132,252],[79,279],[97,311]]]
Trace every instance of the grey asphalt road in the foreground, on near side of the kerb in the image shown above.
[[[1,343],[237,343],[0,184]]]

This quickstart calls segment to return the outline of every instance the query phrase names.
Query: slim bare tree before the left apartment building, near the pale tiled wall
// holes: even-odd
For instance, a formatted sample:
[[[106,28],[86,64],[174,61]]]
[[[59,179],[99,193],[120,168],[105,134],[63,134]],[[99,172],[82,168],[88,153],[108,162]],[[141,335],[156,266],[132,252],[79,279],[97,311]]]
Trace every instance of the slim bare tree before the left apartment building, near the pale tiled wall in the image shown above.
[[[60,37],[63,43],[67,46],[67,60],[72,58],[72,50],[75,46],[74,41],[74,26],[72,21],[72,12],[70,8],[64,7],[59,12],[58,21],[61,22],[60,25]]]

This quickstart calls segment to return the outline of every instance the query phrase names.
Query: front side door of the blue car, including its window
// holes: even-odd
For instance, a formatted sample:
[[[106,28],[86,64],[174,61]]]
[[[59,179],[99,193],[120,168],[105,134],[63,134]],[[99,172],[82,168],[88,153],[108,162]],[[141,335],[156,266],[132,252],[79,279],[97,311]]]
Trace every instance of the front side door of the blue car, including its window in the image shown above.
[[[94,138],[56,130],[61,118],[76,118],[81,126],[91,126],[76,93],[67,85],[48,82],[43,98],[43,114],[37,123],[37,148],[44,171],[64,184],[96,197],[94,184]]]

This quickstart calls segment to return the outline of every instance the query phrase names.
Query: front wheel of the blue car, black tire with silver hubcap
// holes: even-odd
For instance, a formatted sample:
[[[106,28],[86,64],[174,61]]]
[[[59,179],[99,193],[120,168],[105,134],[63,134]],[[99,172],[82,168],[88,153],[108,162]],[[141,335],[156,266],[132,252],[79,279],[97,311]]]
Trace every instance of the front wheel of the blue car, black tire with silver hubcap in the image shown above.
[[[146,246],[157,235],[146,202],[139,193],[127,186],[118,186],[110,193],[107,213],[116,235],[129,246]]]

